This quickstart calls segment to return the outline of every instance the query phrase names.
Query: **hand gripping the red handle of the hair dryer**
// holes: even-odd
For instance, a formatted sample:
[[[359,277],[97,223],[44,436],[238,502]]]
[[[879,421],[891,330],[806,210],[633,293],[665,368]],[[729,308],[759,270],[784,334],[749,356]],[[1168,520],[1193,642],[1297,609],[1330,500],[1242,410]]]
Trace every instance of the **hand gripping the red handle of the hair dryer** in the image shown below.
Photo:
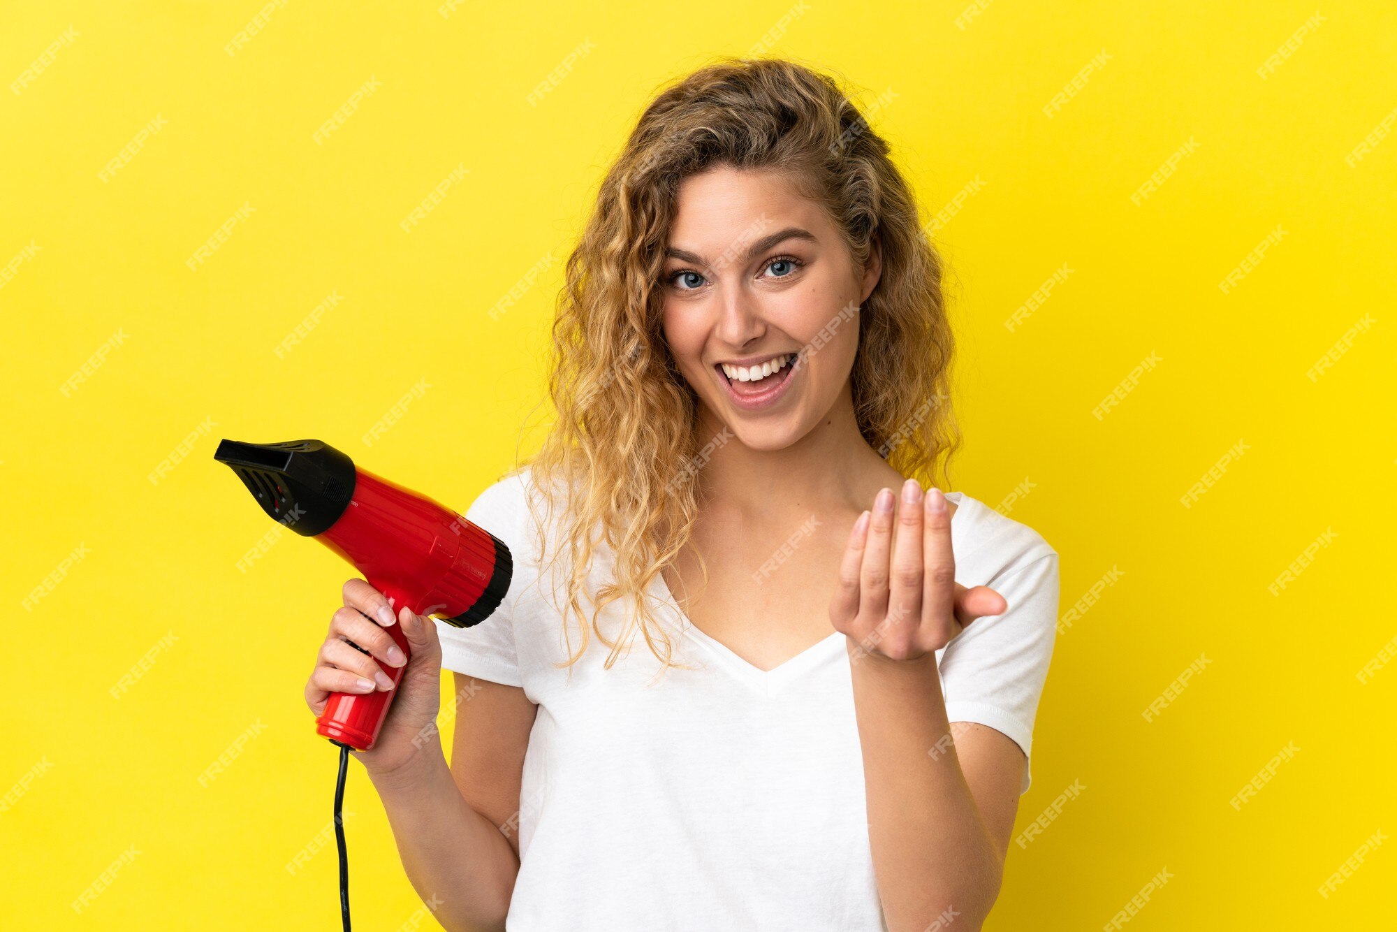
[[[423,749],[440,746],[436,718],[441,707],[441,643],[436,622],[407,606],[400,606],[394,618],[387,597],[362,578],[346,581],[342,594],[344,608],[330,618],[330,633],[306,682],[306,704],[319,718],[330,693],[363,696],[391,686],[383,671],[402,667],[404,657],[386,629],[401,625],[411,657],[397,694],[373,749],[351,752],[372,774],[394,773]],[[355,644],[369,653],[355,650]]]

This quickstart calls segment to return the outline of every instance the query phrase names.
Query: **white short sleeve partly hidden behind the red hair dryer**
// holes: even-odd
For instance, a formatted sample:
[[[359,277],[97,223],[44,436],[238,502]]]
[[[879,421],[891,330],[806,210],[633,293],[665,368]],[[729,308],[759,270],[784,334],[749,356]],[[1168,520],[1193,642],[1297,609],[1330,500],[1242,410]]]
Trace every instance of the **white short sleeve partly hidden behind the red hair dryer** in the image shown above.
[[[486,488],[465,511],[465,520],[481,527],[510,548],[514,576],[499,608],[489,618],[471,627],[455,627],[436,619],[441,641],[441,668],[488,679],[506,686],[522,686],[518,653],[514,641],[514,604],[520,591],[518,576],[524,562],[520,545],[522,490],[514,475]]]

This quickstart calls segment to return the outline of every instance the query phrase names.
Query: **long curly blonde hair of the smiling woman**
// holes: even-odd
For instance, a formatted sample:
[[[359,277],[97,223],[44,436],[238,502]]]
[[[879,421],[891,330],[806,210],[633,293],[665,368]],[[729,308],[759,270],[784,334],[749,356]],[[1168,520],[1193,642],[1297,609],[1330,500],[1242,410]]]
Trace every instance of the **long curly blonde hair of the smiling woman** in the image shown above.
[[[576,664],[595,634],[610,648],[609,669],[637,627],[661,672],[676,665],[647,592],[690,545],[701,444],[697,397],[661,330],[662,271],[680,182],[715,166],[789,177],[828,211],[855,267],[876,235],[882,274],[858,313],[851,374],[859,430],[901,475],[923,483],[944,475],[960,446],[942,260],[887,143],[835,78],[791,60],[729,56],[673,82],[640,116],[569,256],[552,328],[557,416],[541,450],[514,469],[532,471],[531,499],[546,504],[546,516],[535,511],[539,555],[556,542],[548,565],[569,556],[563,627],[566,634],[574,611],[581,644],[573,650],[567,637],[560,667]],[[588,571],[601,544],[615,555],[613,573],[594,597]],[[698,563],[707,581],[701,553]],[[591,620],[584,595],[594,602]],[[617,599],[629,611],[609,637],[595,622]]]

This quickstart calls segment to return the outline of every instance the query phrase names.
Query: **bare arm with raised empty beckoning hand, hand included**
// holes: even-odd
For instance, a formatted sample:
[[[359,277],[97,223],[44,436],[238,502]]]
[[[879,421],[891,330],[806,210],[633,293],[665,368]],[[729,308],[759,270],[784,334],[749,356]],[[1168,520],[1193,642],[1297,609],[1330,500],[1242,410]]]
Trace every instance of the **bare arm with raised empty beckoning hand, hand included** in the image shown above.
[[[1024,755],[982,725],[957,722],[951,741],[936,651],[1006,604],[992,590],[954,584],[953,506],[940,492],[932,489],[925,506],[919,485],[904,492],[912,499],[900,509],[895,539],[890,500],[855,524],[830,613],[849,637],[869,841],[888,928],[923,932],[954,921],[970,931],[999,894]]]

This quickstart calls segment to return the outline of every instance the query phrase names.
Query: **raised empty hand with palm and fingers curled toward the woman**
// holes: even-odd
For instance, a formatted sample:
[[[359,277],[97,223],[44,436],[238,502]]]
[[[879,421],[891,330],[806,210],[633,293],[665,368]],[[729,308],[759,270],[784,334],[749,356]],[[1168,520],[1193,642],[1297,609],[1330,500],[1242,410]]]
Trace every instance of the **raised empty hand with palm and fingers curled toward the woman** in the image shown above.
[[[891,489],[883,489],[872,513],[854,523],[830,602],[830,620],[854,641],[854,660],[925,660],[977,618],[1009,606],[988,585],[956,583],[951,516],[939,489],[923,496],[921,483],[908,479],[895,530],[893,506]]]

